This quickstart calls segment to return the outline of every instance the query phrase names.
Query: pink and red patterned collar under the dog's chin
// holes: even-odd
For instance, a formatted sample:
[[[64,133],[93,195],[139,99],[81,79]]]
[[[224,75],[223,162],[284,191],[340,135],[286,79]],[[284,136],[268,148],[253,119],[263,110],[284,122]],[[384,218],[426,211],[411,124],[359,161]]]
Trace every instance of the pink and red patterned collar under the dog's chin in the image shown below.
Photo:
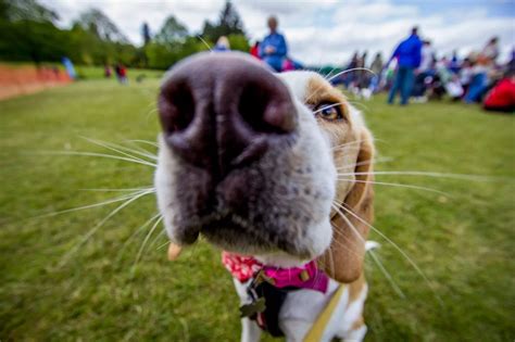
[[[311,261],[302,267],[278,268],[263,265],[252,256],[224,251],[222,263],[240,282],[261,277],[262,280],[279,289],[291,287],[322,293],[327,291],[329,283],[329,277],[318,269],[315,261]]]

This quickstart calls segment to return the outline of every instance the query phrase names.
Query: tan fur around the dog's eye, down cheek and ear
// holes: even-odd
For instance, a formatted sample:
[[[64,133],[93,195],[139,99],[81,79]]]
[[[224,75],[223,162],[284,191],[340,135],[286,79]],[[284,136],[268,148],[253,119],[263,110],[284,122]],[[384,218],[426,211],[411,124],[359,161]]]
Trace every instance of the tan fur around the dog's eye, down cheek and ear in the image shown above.
[[[321,266],[334,279],[353,283],[363,273],[367,224],[374,216],[374,190],[370,181],[374,145],[372,135],[365,127],[355,127],[351,121],[346,97],[323,77],[314,76],[306,89],[305,102],[315,107],[321,103],[339,103],[344,119],[325,121],[318,118],[334,148],[335,165],[340,174],[336,201],[346,210],[361,217],[354,217],[344,208],[332,211],[334,237],[330,249],[321,257]],[[344,179],[341,179],[344,178]],[[354,180],[359,180],[357,182]],[[342,217],[342,214],[344,217]],[[367,224],[365,224],[367,223]]]

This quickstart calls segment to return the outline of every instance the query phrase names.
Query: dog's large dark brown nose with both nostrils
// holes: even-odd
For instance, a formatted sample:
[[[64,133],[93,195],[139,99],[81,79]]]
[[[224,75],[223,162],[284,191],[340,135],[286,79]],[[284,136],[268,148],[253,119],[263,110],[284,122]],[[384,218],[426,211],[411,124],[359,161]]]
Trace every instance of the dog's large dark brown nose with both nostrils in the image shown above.
[[[224,176],[291,139],[297,114],[286,86],[242,53],[203,53],[174,66],[160,93],[166,143],[186,162]]]

